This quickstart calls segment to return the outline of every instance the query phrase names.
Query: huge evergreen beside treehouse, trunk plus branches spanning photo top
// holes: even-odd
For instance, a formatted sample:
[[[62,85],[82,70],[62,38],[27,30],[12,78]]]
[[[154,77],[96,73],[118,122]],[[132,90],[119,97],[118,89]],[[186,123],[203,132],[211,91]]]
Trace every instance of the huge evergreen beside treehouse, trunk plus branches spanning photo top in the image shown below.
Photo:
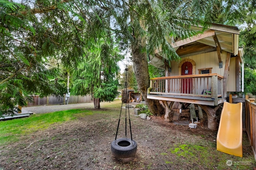
[[[1,37],[4,42],[8,42],[8,39],[14,41],[19,37],[18,40],[21,42],[26,40],[24,45],[29,47],[29,54],[35,51],[36,55],[55,55],[67,65],[76,64],[82,56],[87,57],[84,51],[94,46],[99,39],[104,37],[111,40],[110,35],[115,36],[114,40],[121,50],[131,49],[138,90],[148,108],[154,115],[161,115],[164,110],[159,102],[146,98],[149,87],[147,56],[156,49],[161,49],[169,62],[179,59],[170,45],[173,43],[170,37],[187,38],[200,33],[191,30],[190,25],[200,23],[207,27],[205,21],[223,23],[241,18],[240,7],[255,2],[252,0],[64,0],[58,2],[41,0],[16,4],[4,0],[0,3],[4,6],[0,14],[1,30],[3,30],[1,33],[4,33]],[[216,16],[220,12],[223,16]],[[20,30],[23,30],[24,34],[20,34]],[[102,34],[102,30],[105,35]],[[8,49],[13,51],[12,48]]]

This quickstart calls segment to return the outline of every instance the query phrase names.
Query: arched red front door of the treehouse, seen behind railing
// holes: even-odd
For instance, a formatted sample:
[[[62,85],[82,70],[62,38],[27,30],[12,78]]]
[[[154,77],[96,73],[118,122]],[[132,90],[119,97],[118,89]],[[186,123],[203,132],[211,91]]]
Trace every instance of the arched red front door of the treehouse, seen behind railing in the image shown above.
[[[185,62],[181,66],[181,75],[192,74],[192,63]],[[182,79],[182,93],[190,94],[192,92],[192,78]]]

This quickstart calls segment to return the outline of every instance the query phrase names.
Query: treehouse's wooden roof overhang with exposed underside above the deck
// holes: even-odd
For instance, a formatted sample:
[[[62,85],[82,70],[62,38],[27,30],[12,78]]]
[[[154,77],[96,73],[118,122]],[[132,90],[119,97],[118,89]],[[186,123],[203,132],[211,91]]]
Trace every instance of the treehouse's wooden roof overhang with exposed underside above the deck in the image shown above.
[[[191,29],[203,31],[204,28],[199,25],[192,26]],[[217,51],[219,63],[221,63],[220,53],[222,53],[222,50],[232,53],[234,56],[239,55],[242,60],[243,51],[238,47],[239,34],[240,30],[237,27],[212,23],[210,27],[201,34],[187,39],[175,38],[176,41],[173,41],[174,38],[170,38],[169,43],[181,58]],[[160,59],[159,56],[161,56],[162,59]],[[155,54],[150,55],[149,58],[150,64],[158,68],[165,68],[163,59],[166,59],[166,57],[162,55],[161,50],[155,51]]]

